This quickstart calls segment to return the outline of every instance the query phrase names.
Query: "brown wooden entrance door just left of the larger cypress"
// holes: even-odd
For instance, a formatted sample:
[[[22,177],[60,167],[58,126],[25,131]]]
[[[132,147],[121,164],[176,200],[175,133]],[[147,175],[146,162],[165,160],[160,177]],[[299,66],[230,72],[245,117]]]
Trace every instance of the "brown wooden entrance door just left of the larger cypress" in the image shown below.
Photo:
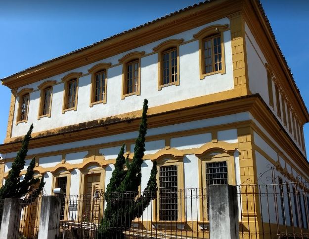
[[[94,199],[93,195],[95,193],[95,190],[100,190],[101,189],[101,182],[100,182],[100,173],[94,173],[94,174],[88,174],[86,175],[86,185],[85,185],[85,209],[84,209],[84,214],[83,218],[85,222],[92,222],[95,224],[99,223],[100,220],[100,210],[101,204],[100,202],[102,199]]]

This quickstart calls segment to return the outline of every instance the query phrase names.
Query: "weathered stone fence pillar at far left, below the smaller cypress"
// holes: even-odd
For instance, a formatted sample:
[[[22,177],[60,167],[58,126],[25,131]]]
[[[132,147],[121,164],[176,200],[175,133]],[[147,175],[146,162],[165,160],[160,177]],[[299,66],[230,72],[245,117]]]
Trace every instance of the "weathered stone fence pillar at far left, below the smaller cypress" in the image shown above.
[[[20,223],[20,206],[18,199],[4,199],[0,239],[17,239]]]

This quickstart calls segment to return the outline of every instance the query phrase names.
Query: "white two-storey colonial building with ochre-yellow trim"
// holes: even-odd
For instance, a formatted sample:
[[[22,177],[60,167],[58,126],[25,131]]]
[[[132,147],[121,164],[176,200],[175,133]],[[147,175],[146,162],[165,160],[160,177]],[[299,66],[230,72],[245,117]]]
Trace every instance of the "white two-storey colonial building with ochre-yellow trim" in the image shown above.
[[[309,114],[257,0],[200,3],[1,81],[12,91],[2,181],[33,124],[25,170],[36,157],[47,194],[104,191],[123,143],[132,158],[146,98],[141,190],[154,160],[159,188],[258,184],[268,165],[309,182]]]

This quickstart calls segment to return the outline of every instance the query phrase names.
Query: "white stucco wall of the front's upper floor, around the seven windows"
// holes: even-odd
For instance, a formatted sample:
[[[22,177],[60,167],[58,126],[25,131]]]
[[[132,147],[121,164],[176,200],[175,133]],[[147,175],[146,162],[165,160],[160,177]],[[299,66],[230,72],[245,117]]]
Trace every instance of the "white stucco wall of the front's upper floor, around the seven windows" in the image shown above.
[[[112,65],[119,64],[118,59],[132,51],[145,51],[145,54],[153,53],[152,48],[159,43],[173,38],[183,38],[184,41],[193,40],[193,34],[196,34],[201,29],[214,24],[229,24],[228,18],[202,25],[200,27],[188,30],[186,32],[172,35],[156,42],[132,49],[101,61],[89,64],[84,67],[73,69],[68,72],[55,75],[48,79],[26,85],[22,88],[34,88],[37,90],[45,80],[56,80],[61,82],[61,78],[69,72],[88,73],[88,69],[100,62],[110,62]],[[40,120],[38,117],[39,97],[40,92],[33,92],[30,96],[29,115],[27,123],[13,124],[12,137],[17,137],[26,134],[30,124],[34,124],[33,132],[41,132],[44,130],[77,124],[99,118],[105,118],[112,115],[118,115],[126,112],[141,109],[144,98],[149,100],[149,107],[162,105],[170,102],[190,99],[198,96],[208,95],[221,91],[226,91],[234,88],[233,71],[232,71],[232,55],[230,31],[223,33],[224,39],[224,54],[225,54],[225,74],[209,75],[204,80],[199,77],[199,46],[198,40],[187,42],[179,46],[179,86],[164,87],[158,91],[158,56],[157,54],[146,55],[141,58],[141,95],[130,96],[125,100],[121,100],[122,87],[122,66],[108,68],[107,77],[107,103],[96,104],[89,107],[90,94],[90,75],[83,76],[79,79],[78,88],[78,104],[77,111],[67,111],[62,114],[63,89],[64,84],[57,84],[53,87],[51,117],[44,117]],[[22,89],[21,88],[21,89]],[[20,91],[21,89],[18,89]],[[189,93],[189,94],[188,94]],[[160,99],[160,101],[158,101]],[[130,105],[130,107],[128,107]],[[16,108],[18,108],[18,99],[16,100]],[[14,122],[16,121],[15,110]]]

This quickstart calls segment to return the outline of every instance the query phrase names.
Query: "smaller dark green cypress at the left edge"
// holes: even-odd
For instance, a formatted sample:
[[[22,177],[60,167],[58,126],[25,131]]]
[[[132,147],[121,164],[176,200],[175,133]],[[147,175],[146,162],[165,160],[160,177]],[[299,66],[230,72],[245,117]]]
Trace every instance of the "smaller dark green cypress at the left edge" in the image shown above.
[[[25,135],[22,146],[17,152],[17,156],[12,164],[12,169],[8,172],[7,179],[4,185],[0,188],[0,199],[4,198],[21,198],[25,195],[29,197],[37,197],[41,194],[44,181],[43,177],[38,188],[34,188],[35,185],[40,181],[39,178],[33,178],[34,167],[36,165],[36,159],[33,158],[30,165],[27,168],[24,180],[20,181],[20,172],[24,169],[25,159],[27,156],[28,145],[31,139],[33,125],[30,126],[28,133]]]

